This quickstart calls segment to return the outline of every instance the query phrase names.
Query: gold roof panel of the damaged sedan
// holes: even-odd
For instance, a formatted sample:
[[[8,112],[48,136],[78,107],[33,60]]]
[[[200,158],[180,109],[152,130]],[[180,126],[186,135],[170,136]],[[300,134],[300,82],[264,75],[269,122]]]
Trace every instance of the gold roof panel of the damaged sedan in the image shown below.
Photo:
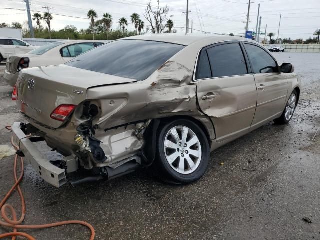
[[[212,43],[220,41],[230,41],[230,40],[241,40],[241,41],[250,41],[255,42],[244,37],[236,36],[225,36],[225,35],[212,35],[212,34],[178,34],[178,33],[163,33],[163,34],[145,34],[126,37],[125,39],[136,39],[136,40],[149,40],[149,41],[163,41],[181,45],[190,45],[197,41],[209,40]],[[121,40],[121,39],[119,39]]]

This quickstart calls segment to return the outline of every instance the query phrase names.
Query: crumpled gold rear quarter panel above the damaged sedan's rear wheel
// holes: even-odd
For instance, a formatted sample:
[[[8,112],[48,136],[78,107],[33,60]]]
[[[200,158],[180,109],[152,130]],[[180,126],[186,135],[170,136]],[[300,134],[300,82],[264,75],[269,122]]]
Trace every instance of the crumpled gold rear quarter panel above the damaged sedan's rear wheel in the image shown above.
[[[191,66],[171,58],[144,81],[87,90],[87,98],[101,108],[100,117],[92,124],[98,124],[95,137],[103,142],[101,147],[109,157],[128,157],[141,149],[144,139],[136,136],[137,126],[114,127],[146,119],[193,117],[205,126],[208,139],[214,139],[210,119],[197,109],[196,84],[192,81],[195,58]]]

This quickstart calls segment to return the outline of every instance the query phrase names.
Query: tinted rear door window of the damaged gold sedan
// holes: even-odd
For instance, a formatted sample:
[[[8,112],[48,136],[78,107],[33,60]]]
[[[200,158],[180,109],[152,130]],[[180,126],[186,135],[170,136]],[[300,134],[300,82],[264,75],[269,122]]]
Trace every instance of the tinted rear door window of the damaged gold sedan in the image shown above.
[[[207,49],[213,77],[247,74],[247,66],[239,43],[226,43]]]

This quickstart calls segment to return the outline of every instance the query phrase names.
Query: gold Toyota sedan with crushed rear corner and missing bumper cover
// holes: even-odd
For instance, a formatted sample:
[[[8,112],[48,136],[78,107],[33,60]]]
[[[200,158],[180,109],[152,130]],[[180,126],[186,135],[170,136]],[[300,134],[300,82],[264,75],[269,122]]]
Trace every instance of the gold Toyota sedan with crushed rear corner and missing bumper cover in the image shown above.
[[[210,151],[268,121],[290,121],[300,94],[293,70],[243,38],[120,39],[64,65],[22,70],[13,97],[28,123],[13,124],[13,139],[57,187],[78,169],[92,176],[73,184],[139,167],[189,183]],[[33,143],[41,140],[64,157],[47,159]]]

